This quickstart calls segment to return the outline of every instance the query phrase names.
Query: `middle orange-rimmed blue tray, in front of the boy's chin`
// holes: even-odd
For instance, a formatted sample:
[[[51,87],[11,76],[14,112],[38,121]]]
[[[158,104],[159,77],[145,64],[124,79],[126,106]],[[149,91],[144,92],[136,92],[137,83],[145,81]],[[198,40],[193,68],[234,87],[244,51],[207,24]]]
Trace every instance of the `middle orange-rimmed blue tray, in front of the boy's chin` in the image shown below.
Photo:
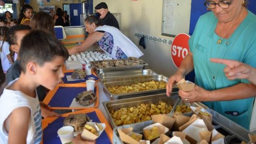
[[[94,88],[97,99],[93,107],[70,107],[73,98],[83,91],[86,91],[86,84],[58,84],[53,90],[49,91],[43,102],[49,105],[49,109],[97,108],[99,103],[99,89],[97,84],[95,84]]]

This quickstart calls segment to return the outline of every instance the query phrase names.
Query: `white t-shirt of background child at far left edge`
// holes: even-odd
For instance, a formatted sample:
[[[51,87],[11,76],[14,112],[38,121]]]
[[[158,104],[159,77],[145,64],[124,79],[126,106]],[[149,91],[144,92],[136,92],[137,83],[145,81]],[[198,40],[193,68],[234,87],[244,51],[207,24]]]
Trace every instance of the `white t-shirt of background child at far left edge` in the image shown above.
[[[0,41],[0,47],[2,46],[3,41]],[[4,42],[2,46],[2,51],[0,51],[1,64],[3,71],[6,73],[7,70],[12,66],[11,62],[7,59],[7,55],[10,54],[9,43]]]

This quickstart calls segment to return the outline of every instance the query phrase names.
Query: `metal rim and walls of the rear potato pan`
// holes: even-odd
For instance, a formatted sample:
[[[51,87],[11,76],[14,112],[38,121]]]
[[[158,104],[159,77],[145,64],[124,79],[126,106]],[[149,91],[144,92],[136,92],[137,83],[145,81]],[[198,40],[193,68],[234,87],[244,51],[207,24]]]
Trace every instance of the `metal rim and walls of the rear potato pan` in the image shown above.
[[[101,82],[103,84],[104,90],[109,94],[111,100],[166,93],[166,88],[132,92],[132,93],[126,93],[126,94],[112,94],[108,90],[109,86],[116,86],[116,85],[125,86],[125,85],[137,84],[137,83],[144,83],[152,80],[165,81],[167,83],[169,78],[164,75],[158,74],[158,75],[144,75],[144,76],[134,76],[134,77],[109,78],[109,79],[103,79],[101,80]],[[177,92],[177,91],[178,91],[178,88],[175,86],[173,88],[173,92]]]

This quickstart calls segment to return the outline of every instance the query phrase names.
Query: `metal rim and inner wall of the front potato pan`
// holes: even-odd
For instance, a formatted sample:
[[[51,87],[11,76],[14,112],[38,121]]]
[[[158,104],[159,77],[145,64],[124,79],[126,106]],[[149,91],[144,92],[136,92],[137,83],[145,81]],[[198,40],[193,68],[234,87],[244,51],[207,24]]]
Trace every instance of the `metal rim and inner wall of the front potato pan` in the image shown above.
[[[171,94],[170,97],[166,96],[166,94],[157,94],[157,95],[150,95],[150,96],[140,96],[140,97],[134,97],[134,98],[105,101],[105,102],[102,102],[102,104],[108,114],[110,124],[114,128],[117,126],[110,115],[111,110],[118,110],[120,108],[130,108],[130,107],[138,106],[142,103],[156,104],[159,101],[165,102],[166,104],[173,106],[176,100],[178,99],[178,96],[179,96],[178,92],[174,92]],[[182,100],[180,101],[179,105],[191,106],[190,103],[184,103]],[[193,106],[207,108],[202,103],[194,103]]]

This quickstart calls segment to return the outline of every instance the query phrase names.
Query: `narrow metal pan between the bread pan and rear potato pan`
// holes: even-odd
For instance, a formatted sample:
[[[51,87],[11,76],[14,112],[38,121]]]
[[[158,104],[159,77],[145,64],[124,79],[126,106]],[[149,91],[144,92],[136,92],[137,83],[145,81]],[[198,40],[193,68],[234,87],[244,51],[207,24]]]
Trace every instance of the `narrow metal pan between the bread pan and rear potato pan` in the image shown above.
[[[129,77],[129,76],[141,76],[141,75],[157,75],[152,70],[129,70],[129,71],[116,71],[116,72],[101,72],[98,74],[100,79],[116,78],[116,77]]]

